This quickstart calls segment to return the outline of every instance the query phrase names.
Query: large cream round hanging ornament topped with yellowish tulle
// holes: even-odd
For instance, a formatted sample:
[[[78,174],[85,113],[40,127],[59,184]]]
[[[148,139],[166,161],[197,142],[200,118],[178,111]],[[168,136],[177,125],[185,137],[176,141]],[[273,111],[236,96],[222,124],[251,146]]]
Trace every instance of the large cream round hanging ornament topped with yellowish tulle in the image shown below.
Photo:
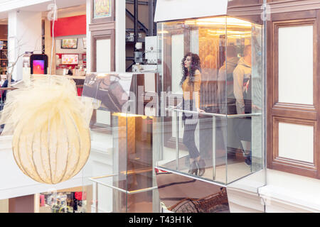
[[[35,79],[9,92],[0,123],[13,135],[12,149],[22,172],[58,184],[80,172],[90,155],[90,102],[75,83],[58,76]]]

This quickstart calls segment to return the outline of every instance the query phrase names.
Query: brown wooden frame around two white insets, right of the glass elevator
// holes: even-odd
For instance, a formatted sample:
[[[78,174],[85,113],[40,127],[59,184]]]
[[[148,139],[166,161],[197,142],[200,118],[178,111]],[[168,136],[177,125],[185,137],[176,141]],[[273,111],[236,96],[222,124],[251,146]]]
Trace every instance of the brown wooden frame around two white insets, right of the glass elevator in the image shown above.
[[[319,128],[320,96],[320,10],[311,1],[269,1],[272,7],[281,2],[282,12],[272,13],[267,21],[267,167],[307,177],[320,178]],[[319,1],[318,1],[319,2]],[[292,4],[306,4],[297,13]],[[309,3],[309,4],[308,4]],[[279,5],[277,5],[279,6]],[[307,6],[307,7],[306,7]],[[314,6],[314,9],[311,9]],[[279,10],[278,10],[279,11]],[[287,104],[278,101],[278,29],[287,26],[314,26],[314,105]],[[279,157],[279,123],[314,126],[314,162]],[[302,150],[303,152],[303,150]]]

